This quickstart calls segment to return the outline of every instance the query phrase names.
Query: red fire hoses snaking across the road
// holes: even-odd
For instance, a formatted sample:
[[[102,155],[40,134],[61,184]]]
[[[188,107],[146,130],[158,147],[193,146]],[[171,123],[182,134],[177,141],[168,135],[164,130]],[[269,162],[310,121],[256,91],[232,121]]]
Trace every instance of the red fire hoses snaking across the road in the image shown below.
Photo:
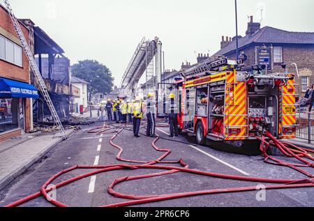
[[[96,131],[97,129],[93,130]],[[183,197],[194,197],[194,196],[200,196],[200,195],[205,195],[205,194],[220,194],[220,193],[227,193],[227,192],[246,192],[246,191],[256,191],[257,187],[254,186],[248,186],[248,187],[234,187],[234,188],[225,188],[225,189],[216,189],[216,190],[202,190],[202,191],[194,191],[194,192],[183,192],[183,193],[175,193],[175,194],[162,194],[162,195],[154,195],[154,196],[135,196],[135,195],[130,195],[130,194],[123,194],[114,191],[114,187],[117,184],[121,184],[124,182],[127,182],[129,180],[140,180],[143,178],[152,178],[152,177],[158,177],[158,176],[165,176],[171,173],[179,173],[179,172],[184,172],[184,173],[192,173],[192,174],[197,174],[200,176],[208,176],[212,178],[223,178],[223,179],[229,179],[229,180],[243,180],[243,181],[250,181],[250,182],[257,182],[257,183],[273,183],[274,185],[267,185],[265,186],[266,190],[271,190],[271,189],[285,189],[285,188],[300,188],[300,187],[314,187],[314,179],[313,178],[308,178],[308,179],[271,179],[271,178],[256,178],[256,177],[249,177],[249,176],[234,176],[230,174],[222,174],[222,173],[210,173],[206,171],[200,171],[200,170],[195,170],[195,169],[189,169],[188,164],[184,162],[183,159],[180,159],[177,164],[180,164],[182,167],[179,166],[161,166],[161,165],[156,165],[156,164],[174,164],[174,162],[163,162],[162,160],[165,159],[168,155],[170,155],[171,150],[170,149],[160,149],[156,146],[156,142],[159,139],[159,136],[154,139],[154,141],[151,143],[151,146],[159,152],[165,152],[161,157],[158,159],[152,159],[149,162],[141,162],[141,161],[136,161],[136,160],[130,160],[130,159],[124,159],[121,157],[123,153],[123,148],[121,148],[119,145],[114,143],[114,139],[119,136],[121,131],[124,130],[124,127],[119,129],[114,136],[110,139],[110,144],[114,146],[114,148],[117,148],[119,150],[117,154],[117,159],[123,162],[132,162],[132,163],[139,163],[136,165],[130,165],[130,164],[116,164],[116,165],[107,165],[107,166],[72,166],[69,169],[60,171],[56,175],[52,176],[47,182],[40,188],[39,192],[36,192],[35,194],[31,194],[29,197],[25,197],[24,199],[20,199],[19,201],[15,201],[12,204],[8,204],[6,207],[13,207],[13,206],[19,206],[21,204],[24,204],[27,201],[30,201],[31,199],[35,199],[37,197],[40,197],[40,195],[43,195],[47,201],[49,201],[51,204],[54,206],[60,206],[60,207],[65,207],[66,204],[63,204],[59,201],[56,201],[52,199],[48,193],[52,190],[57,189],[59,187],[62,187],[64,185],[68,185],[69,183],[73,183],[76,180],[80,180],[82,178],[87,178],[89,176],[94,176],[99,173],[105,173],[107,171],[117,171],[117,170],[140,170],[140,169],[162,169],[165,170],[163,172],[158,172],[158,173],[149,173],[149,174],[144,174],[140,176],[126,176],[122,178],[118,178],[116,180],[113,180],[113,182],[110,184],[108,187],[108,193],[111,194],[114,197],[118,197],[121,199],[130,199],[131,201],[124,201],[118,204],[110,204],[110,205],[105,205],[105,207],[117,207],[117,206],[132,206],[132,205],[137,205],[137,204],[144,204],[144,203],[150,203],[150,202],[156,202],[156,201],[164,201],[164,200],[169,200],[169,199],[179,199]],[[281,146],[281,149],[287,151],[290,155],[296,156],[294,152],[291,150],[288,150],[289,148],[283,147],[281,142],[276,141],[276,138],[271,136],[270,133],[265,133],[265,136],[269,136],[272,141],[277,146]],[[262,152],[264,155],[264,152],[267,150],[267,148],[264,148],[264,144],[267,143],[267,141],[264,140],[264,136],[260,138],[261,140],[261,148]],[[269,144],[270,145],[270,144]],[[268,146],[267,146],[268,147]],[[300,148],[302,152],[306,151],[303,148]],[[264,155],[266,158],[267,155]],[[304,156],[305,157],[305,156]],[[301,157],[296,157],[297,159]],[[300,160],[300,159],[299,159]],[[302,161],[304,163],[307,163],[307,161]],[[313,166],[313,164],[308,164],[308,166]],[[61,183],[58,183],[57,185],[53,187],[48,187],[56,178],[59,178],[63,174],[66,174],[70,171],[74,171],[75,169],[96,169],[95,171],[91,171],[89,173],[84,173],[80,176],[75,176],[74,178],[70,178],[69,180],[64,180]],[[313,177],[313,176],[312,176]]]

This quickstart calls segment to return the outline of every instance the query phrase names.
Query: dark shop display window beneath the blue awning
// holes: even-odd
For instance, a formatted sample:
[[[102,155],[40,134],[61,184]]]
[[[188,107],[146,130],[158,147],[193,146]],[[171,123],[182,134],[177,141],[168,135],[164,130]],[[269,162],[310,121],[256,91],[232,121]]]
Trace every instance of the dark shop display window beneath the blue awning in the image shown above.
[[[19,128],[19,99],[0,99],[0,133]]]

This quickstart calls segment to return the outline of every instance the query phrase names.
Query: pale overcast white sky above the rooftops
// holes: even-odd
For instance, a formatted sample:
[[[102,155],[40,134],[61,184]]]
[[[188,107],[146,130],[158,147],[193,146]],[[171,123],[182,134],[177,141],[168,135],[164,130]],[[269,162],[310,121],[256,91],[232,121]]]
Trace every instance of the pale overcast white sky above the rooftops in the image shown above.
[[[19,18],[30,18],[56,41],[71,63],[96,59],[115,85],[145,36],[163,42],[166,69],[196,62],[196,53],[220,49],[221,36],[235,36],[234,0],[10,0]],[[248,16],[262,27],[314,32],[313,0],[238,0],[239,34]],[[261,16],[262,9],[262,16]]]

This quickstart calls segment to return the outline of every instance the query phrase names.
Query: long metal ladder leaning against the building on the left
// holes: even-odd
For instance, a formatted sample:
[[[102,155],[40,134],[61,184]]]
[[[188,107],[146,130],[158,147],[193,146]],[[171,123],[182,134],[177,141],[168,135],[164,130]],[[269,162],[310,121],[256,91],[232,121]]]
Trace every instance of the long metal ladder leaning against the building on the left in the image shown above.
[[[40,71],[39,71],[38,66],[35,62],[35,59],[33,58],[33,54],[31,52],[31,49],[29,48],[29,45],[27,44],[27,41],[24,37],[24,34],[23,34],[22,29],[20,27],[20,24],[17,21],[17,18],[15,17],[15,15],[13,13],[13,10],[10,6],[9,1],[8,0],[3,0],[3,1],[6,4],[6,8],[7,8],[8,13],[11,17],[11,20],[14,24],[15,31],[17,32],[17,36],[20,38],[24,52],[27,55],[27,59],[29,60],[29,65],[31,66],[31,71],[33,71],[33,73],[34,73],[36,83],[39,86],[39,90],[40,90],[41,94],[43,95],[43,98],[45,99],[45,102],[47,103],[48,108],[50,109],[50,112],[52,114],[52,117],[54,118],[55,124],[57,124],[57,127],[59,127],[59,129],[61,131],[61,137],[63,138],[63,140],[65,140],[67,138],[66,131],[64,130],[64,128],[61,124],[60,118],[57,114],[57,111],[54,108],[54,105],[52,104],[52,100],[50,99],[50,96],[48,94],[47,87],[45,85],[43,77],[40,74]]]

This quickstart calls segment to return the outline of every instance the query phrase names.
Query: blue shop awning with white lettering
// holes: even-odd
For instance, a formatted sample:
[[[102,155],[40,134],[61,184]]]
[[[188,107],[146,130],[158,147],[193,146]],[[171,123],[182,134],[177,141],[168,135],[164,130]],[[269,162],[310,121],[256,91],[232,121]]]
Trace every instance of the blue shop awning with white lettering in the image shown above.
[[[16,80],[0,78],[0,97],[38,98],[38,90],[33,85]]]

